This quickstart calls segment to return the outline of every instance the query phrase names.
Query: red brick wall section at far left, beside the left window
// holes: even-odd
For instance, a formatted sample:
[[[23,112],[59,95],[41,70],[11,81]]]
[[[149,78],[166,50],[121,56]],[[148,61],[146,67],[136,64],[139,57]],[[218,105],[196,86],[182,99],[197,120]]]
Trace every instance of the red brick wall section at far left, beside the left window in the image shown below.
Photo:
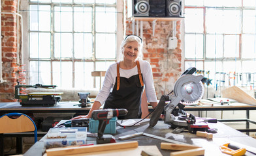
[[[1,12],[17,12],[17,1],[1,1]],[[3,79],[7,82],[0,83],[0,101],[16,101],[14,99],[14,86],[18,78],[17,65],[17,23],[16,15],[1,14],[2,29],[2,62]]]

